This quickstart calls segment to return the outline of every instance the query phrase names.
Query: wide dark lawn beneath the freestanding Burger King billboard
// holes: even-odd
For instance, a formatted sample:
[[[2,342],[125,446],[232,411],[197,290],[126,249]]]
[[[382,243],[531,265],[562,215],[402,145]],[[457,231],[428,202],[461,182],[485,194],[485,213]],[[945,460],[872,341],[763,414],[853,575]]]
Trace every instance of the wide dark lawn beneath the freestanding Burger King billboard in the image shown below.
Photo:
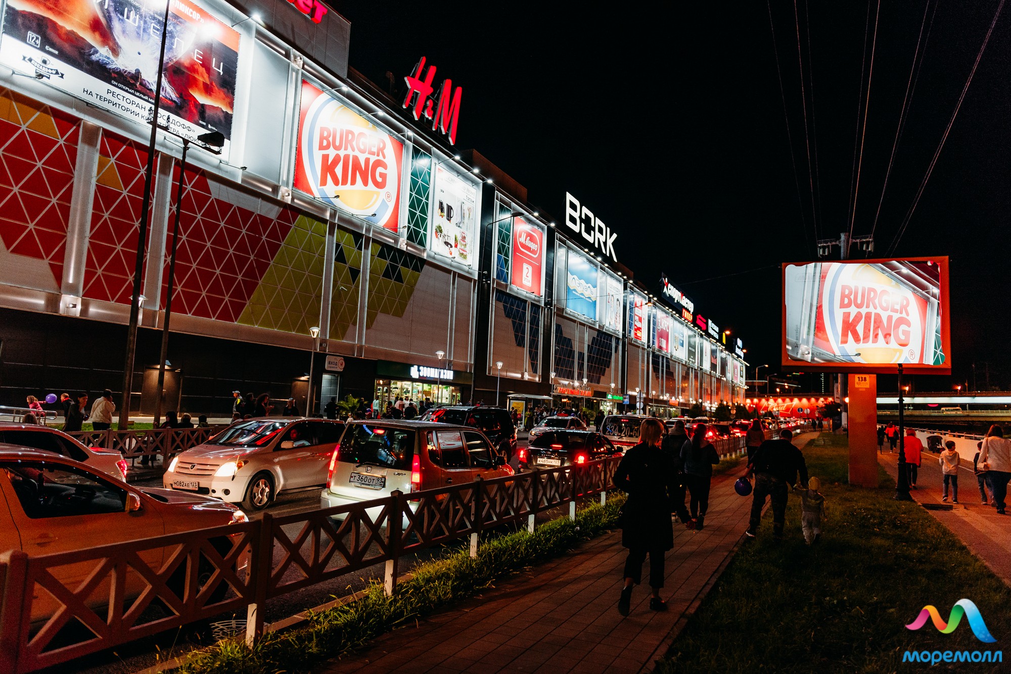
[[[804,455],[826,498],[822,541],[805,545],[797,495],[779,545],[767,512],[758,538],[742,544],[657,672],[912,671],[923,665],[903,665],[907,650],[997,651],[1009,643],[1011,591],[957,537],[917,503],[894,500],[884,470],[880,489],[849,486],[845,436],[822,434]],[[949,635],[930,623],[905,628],[927,604],[947,621],[961,598],[979,606],[996,644],[977,641],[964,620]]]

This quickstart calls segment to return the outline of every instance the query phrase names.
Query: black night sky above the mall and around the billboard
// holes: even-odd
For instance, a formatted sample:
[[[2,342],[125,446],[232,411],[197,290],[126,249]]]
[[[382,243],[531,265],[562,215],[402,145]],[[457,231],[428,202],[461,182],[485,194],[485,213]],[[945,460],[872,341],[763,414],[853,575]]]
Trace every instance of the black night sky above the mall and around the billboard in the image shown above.
[[[333,4],[352,22],[353,68],[402,82],[427,57],[437,82],[463,87],[458,147],[487,156],[556,219],[572,192],[619,233],[618,258],[638,279],[658,294],[666,271],[699,313],[741,336],[752,367],[773,374],[779,263],[814,259],[816,238],[838,238],[851,220],[854,236],[874,229],[875,256],[889,253],[998,7],[882,3],[875,39],[875,2],[819,3],[808,15],[802,1],[796,20],[780,0],[629,13],[636,6]],[[951,257],[953,373],[916,377],[917,390],[972,385],[974,361],[979,388],[987,373],[991,386],[1011,385],[1008,63],[1011,7],[892,253]],[[894,387],[894,377],[880,383]]]

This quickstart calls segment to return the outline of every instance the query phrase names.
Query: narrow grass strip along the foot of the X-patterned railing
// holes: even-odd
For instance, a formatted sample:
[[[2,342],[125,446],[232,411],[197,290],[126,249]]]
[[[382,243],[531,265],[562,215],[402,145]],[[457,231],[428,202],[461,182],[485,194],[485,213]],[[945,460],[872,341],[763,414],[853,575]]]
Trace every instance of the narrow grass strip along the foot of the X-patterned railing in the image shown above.
[[[575,522],[559,518],[534,533],[526,529],[483,541],[477,557],[469,546],[411,569],[411,578],[387,597],[373,581],[357,601],[313,613],[304,628],[264,635],[250,648],[241,639],[218,642],[193,654],[179,668],[184,674],[275,674],[310,669],[323,660],[359,648],[408,621],[453,601],[474,596],[491,583],[570,550],[579,541],[614,529],[623,495],[609,495],[576,513]]]

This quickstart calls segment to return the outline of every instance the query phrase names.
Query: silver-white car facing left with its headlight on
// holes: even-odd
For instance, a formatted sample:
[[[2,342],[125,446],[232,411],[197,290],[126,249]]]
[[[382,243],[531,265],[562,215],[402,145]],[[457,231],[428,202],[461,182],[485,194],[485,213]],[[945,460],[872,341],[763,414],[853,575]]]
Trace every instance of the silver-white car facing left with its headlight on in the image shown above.
[[[162,483],[263,510],[279,493],[326,484],[327,466],[343,431],[343,422],[329,419],[239,421],[173,458]]]

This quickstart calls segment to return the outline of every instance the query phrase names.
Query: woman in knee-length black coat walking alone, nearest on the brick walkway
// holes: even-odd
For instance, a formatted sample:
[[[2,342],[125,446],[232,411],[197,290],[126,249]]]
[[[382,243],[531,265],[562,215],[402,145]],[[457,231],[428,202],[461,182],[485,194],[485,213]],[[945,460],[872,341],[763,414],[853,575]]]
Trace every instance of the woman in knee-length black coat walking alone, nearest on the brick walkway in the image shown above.
[[[618,611],[629,614],[632,586],[642,580],[642,563],[649,555],[649,585],[653,596],[649,607],[666,610],[660,598],[663,587],[663,555],[674,547],[670,522],[671,496],[677,479],[670,458],[660,450],[663,425],[645,419],[639,428],[639,444],[629,449],[615,472],[615,486],[628,493],[622,508],[622,545],[629,549],[625,562],[625,587]]]

